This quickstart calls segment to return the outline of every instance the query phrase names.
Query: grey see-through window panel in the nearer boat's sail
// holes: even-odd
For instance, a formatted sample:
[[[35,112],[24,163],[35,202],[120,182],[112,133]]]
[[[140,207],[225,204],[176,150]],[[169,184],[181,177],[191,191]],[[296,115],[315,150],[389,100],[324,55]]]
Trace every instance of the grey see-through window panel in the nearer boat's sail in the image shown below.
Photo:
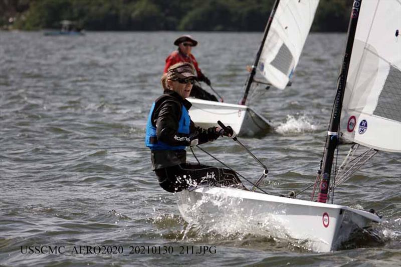
[[[373,115],[383,118],[401,121],[401,71],[390,66],[387,79],[385,80],[383,90],[377,101],[376,109]]]

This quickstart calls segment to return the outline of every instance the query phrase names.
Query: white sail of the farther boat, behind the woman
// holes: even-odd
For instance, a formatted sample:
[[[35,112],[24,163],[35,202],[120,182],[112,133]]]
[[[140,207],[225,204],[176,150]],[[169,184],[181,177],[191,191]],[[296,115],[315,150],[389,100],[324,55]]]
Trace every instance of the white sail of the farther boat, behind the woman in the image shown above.
[[[284,89],[301,56],[319,0],[280,0],[258,63],[260,73]]]

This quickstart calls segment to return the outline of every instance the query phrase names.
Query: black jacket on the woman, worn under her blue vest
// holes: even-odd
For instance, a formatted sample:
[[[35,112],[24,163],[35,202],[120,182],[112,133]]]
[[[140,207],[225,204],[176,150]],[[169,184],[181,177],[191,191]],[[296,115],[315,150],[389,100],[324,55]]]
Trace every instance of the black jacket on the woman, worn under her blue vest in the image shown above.
[[[190,122],[189,134],[177,133],[178,123],[181,118],[182,105],[189,110],[192,104],[182,99],[172,90],[164,90],[164,94],[155,100],[155,107],[151,121],[156,126],[157,140],[170,146],[189,146],[190,142],[198,139],[198,144],[216,140],[220,134],[216,127],[203,129]],[[185,150],[153,150],[153,170],[174,166],[186,162]]]

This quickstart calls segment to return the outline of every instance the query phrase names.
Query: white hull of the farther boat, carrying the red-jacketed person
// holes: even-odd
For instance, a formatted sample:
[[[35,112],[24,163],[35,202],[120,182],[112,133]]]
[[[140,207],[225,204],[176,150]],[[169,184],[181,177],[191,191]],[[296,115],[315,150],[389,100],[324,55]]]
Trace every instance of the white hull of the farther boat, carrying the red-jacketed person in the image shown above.
[[[270,122],[253,109],[245,105],[236,105],[187,98],[192,107],[189,109],[191,120],[199,127],[209,128],[218,126],[217,121],[230,125],[240,136],[255,136],[267,133],[271,128]]]

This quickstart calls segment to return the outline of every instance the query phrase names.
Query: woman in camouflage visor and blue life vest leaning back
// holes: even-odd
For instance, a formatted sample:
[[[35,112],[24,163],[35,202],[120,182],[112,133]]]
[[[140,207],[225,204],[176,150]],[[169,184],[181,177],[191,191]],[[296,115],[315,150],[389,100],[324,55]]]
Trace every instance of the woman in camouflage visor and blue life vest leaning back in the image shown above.
[[[186,162],[187,146],[214,141],[219,136],[235,137],[233,129],[219,127],[203,129],[194,125],[185,100],[195,81],[190,63],[177,63],[168,68],[161,83],[164,93],[149,112],[145,145],[151,150],[152,167],[159,185],[168,192],[178,192],[197,184],[236,186],[243,188],[233,170]]]

